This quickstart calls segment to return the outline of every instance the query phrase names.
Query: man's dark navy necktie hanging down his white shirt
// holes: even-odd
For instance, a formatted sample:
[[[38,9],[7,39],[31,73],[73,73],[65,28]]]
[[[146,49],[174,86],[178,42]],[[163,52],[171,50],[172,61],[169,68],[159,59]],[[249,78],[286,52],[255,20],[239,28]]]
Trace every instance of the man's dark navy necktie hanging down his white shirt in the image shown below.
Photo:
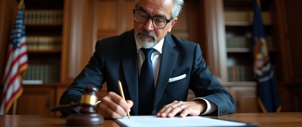
[[[138,81],[138,113],[139,115],[150,115],[154,94],[154,76],[151,61],[151,54],[154,49],[141,48],[141,50],[146,58],[140,69],[140,78]]]

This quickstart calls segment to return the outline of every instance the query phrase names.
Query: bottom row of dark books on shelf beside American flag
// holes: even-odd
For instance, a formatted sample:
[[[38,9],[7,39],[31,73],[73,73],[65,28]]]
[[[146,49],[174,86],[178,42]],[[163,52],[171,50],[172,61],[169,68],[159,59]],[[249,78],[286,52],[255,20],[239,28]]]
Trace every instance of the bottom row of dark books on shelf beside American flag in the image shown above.
[[[30,64],[28,65],[27,72],[22,76],[22,79],[24,84],[43,84],[59,82],[59,75],[59,66]]]

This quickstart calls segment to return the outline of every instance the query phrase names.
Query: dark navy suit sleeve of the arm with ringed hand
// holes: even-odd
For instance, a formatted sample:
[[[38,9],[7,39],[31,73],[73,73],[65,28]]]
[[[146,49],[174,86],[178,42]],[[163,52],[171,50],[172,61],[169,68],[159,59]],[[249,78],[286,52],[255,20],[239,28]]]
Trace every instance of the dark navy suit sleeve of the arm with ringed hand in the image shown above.
[[[196,98],[204,98],[217,105],[217,110],[209,115],[219,116],[235,112],[233,96],[226,91],[214,74],[210,72],[209,67],[202,58],[199,44],[196,45],[194,51],[189,88],[194,92]]]

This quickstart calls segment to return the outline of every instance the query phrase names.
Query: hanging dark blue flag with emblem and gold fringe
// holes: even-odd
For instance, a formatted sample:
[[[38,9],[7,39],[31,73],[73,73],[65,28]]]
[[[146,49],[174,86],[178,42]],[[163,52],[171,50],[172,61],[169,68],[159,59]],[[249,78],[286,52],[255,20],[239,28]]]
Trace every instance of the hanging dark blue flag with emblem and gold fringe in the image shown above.
[[[261,17],[261,6],[254,0],[254,21],[252,33],[253,71],[258,81],[258,103],[262,112],[280,112],[281,105],[276,88],[275,74],[272,70],[265,30]]]

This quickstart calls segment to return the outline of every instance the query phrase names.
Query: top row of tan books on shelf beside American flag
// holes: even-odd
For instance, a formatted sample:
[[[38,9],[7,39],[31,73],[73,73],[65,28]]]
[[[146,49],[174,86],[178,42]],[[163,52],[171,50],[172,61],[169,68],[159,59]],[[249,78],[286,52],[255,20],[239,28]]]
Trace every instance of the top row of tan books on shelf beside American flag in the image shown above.
[[[24,11],[25,24],[62,23],[63,10],[26,10]]]

